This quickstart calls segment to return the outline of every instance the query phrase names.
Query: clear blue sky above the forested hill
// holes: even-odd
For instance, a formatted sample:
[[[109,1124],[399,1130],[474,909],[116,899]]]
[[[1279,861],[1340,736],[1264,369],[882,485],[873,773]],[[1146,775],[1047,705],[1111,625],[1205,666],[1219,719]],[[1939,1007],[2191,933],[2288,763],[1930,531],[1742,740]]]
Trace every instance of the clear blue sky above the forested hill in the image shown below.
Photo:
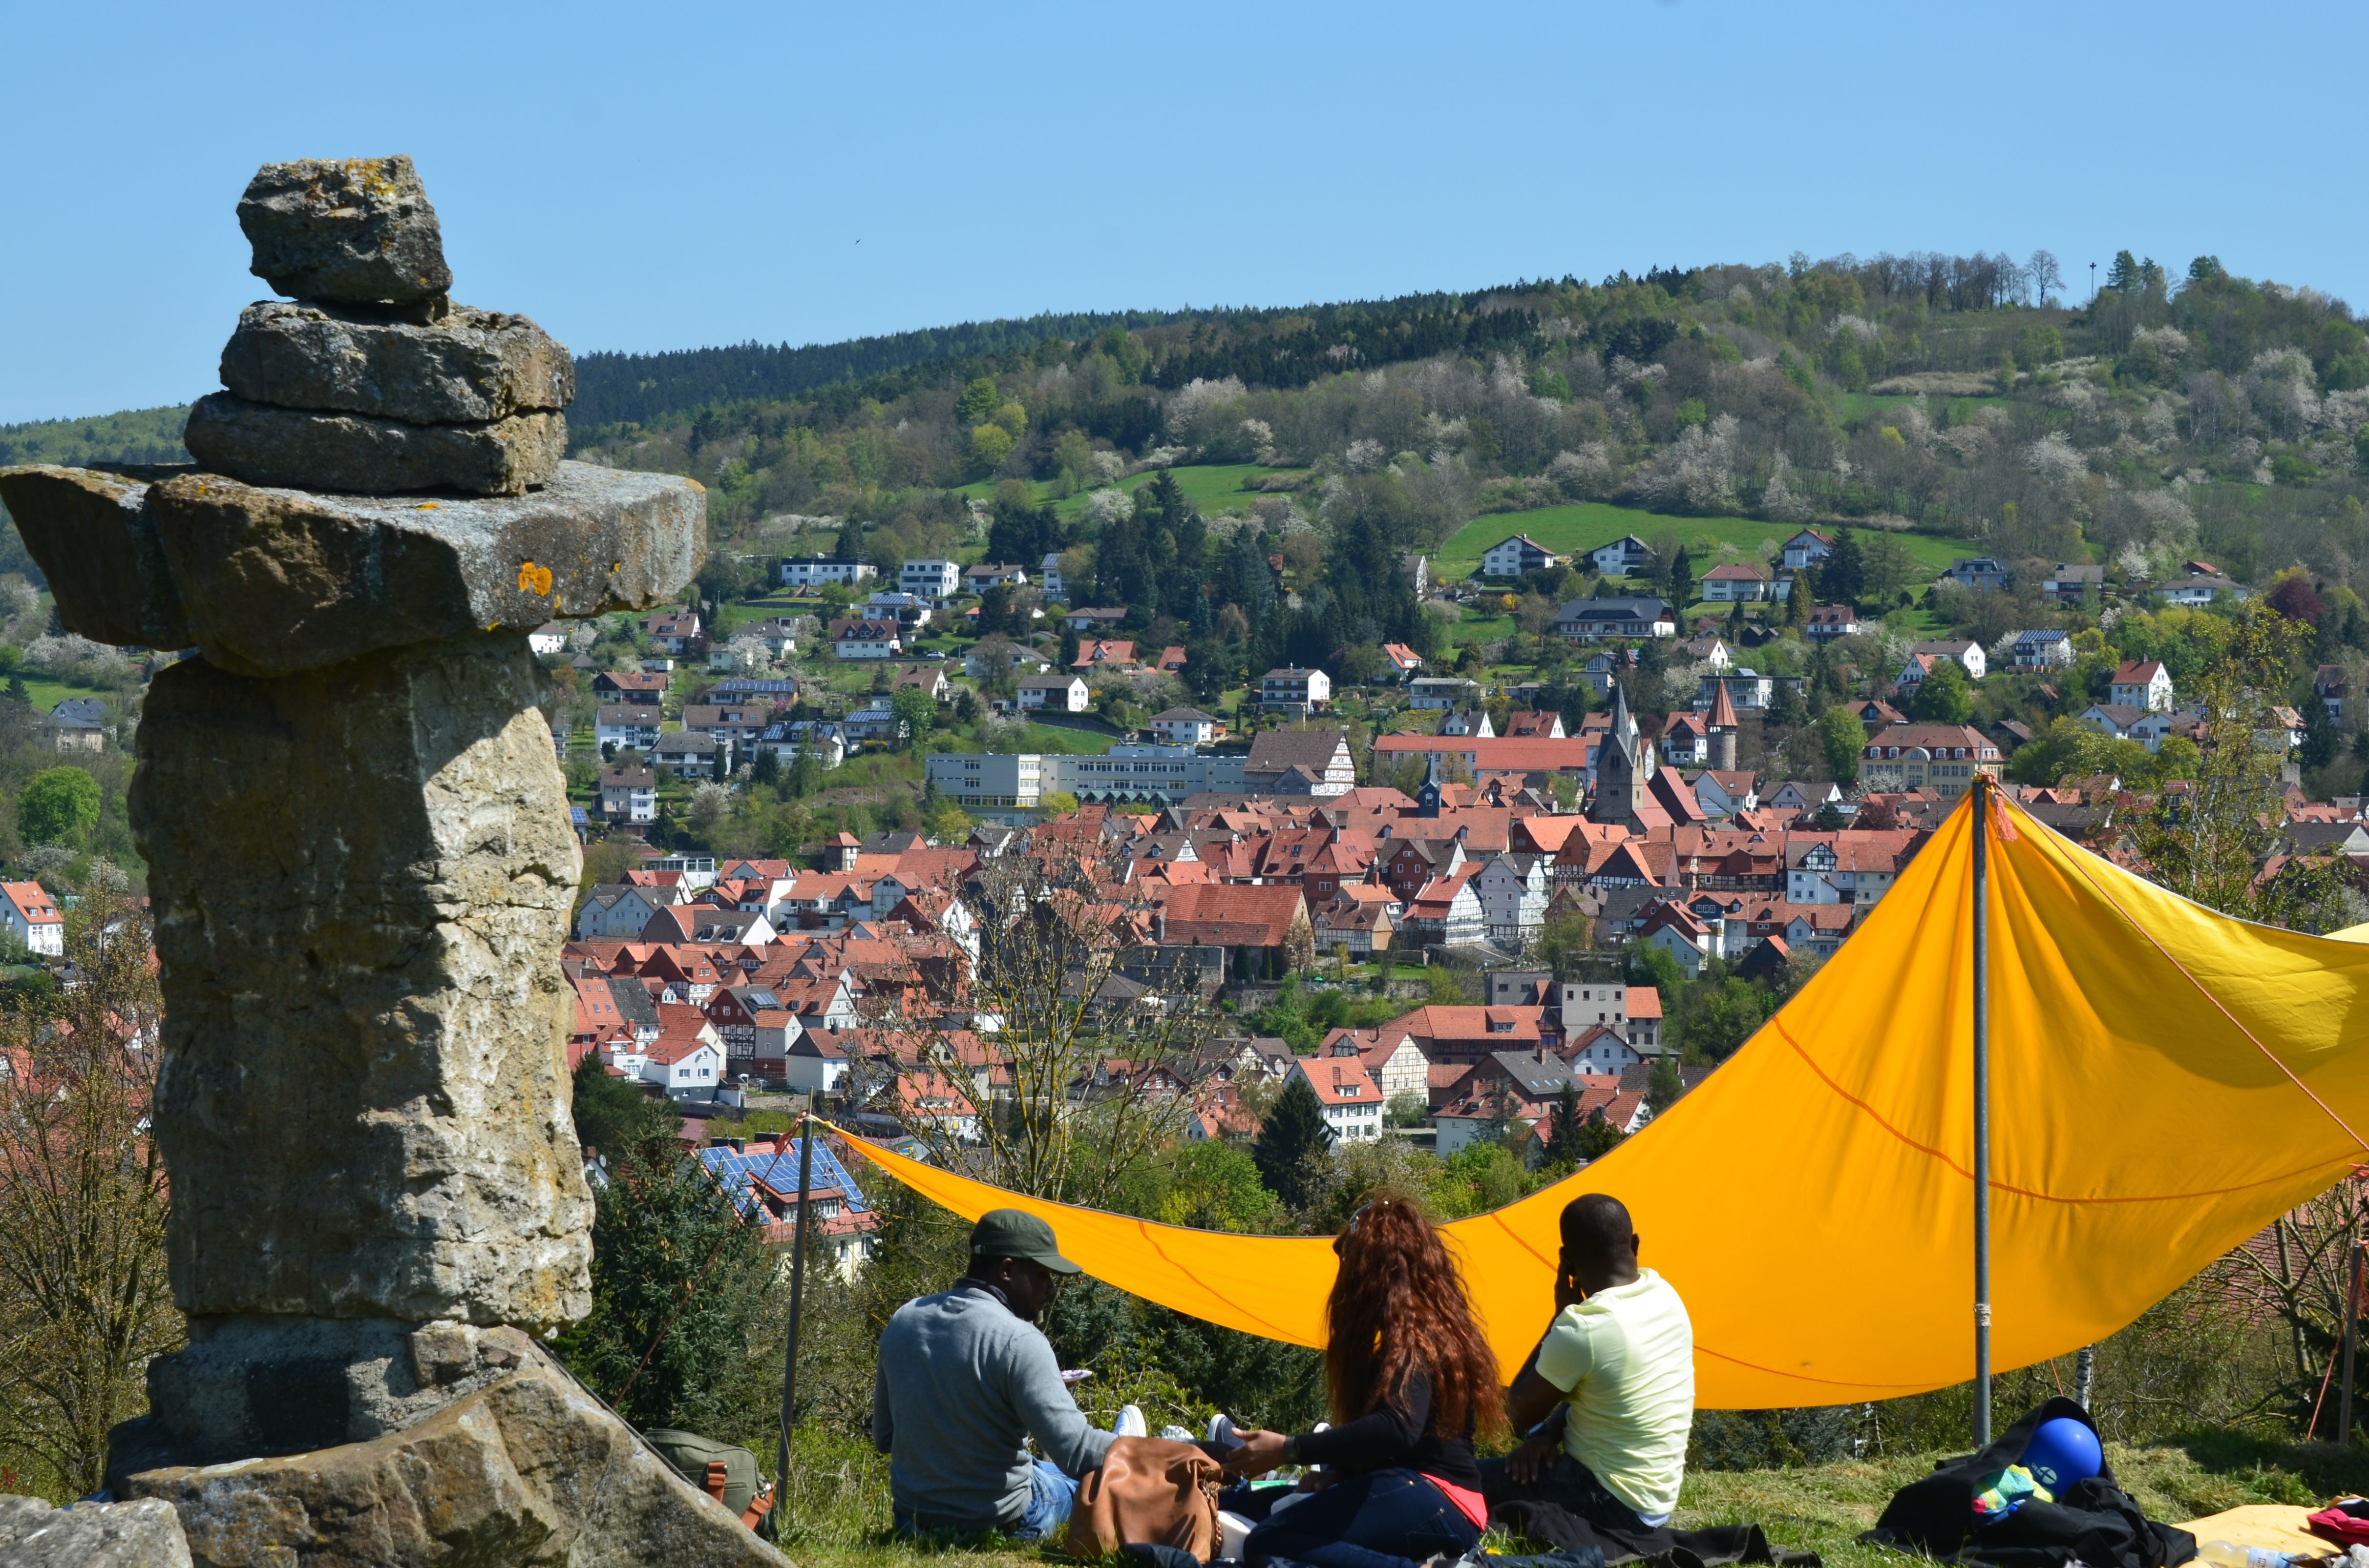
[[[2364,14],[17,5],[0,422],[211,391],[256,163],[384,152],[455,296],[578,353],[1793,249],[2213,251],[2369,310]]]

